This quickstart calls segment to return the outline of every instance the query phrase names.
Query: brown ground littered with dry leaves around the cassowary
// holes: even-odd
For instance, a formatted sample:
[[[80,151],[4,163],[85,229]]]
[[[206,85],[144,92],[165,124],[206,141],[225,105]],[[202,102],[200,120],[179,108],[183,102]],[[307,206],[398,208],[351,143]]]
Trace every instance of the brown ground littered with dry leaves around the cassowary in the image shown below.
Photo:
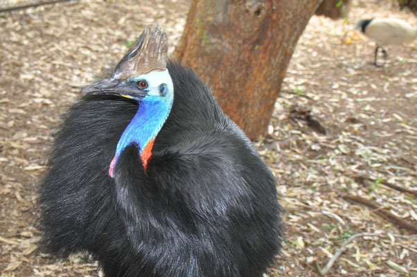
[[[190,1],[77,1],[0,14],[0,271],[103,276],[96,262],[36,250],[37,183],[53,127],[144,26],[174,49]],[[292,57],[269,134],[256,141],[278,181],[287,237],[267,276],[417,276],[417,48],[374,44],[353,24],[417,18],[389,0],[312,17]],[[340,255],[340,256],[339,256]]]

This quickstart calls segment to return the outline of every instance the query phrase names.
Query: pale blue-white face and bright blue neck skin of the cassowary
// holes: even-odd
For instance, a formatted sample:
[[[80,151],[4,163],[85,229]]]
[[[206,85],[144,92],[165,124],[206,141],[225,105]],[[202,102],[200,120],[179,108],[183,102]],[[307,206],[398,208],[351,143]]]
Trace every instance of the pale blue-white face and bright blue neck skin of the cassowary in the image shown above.
[[[141,89],[137,85],[141,81],[146,82],[148,87]],[[117,143],[116,153],[109,167],[110,177],[114,177],[114,166],[116,166],[118,157],[127,145],[136,144],[139,148],[139,154],[142,154],[146,145],[151,141],[153,143],[163,123],[168,118],[174,99],[174,89],[168,71],[151,71],[148,74],[129,78],[122,86],[132,87],[132,84],[136,85],[136,91],[123,96],[138,101],[139,108]],[[145,97],[134,96],[135,94],[145,94]],[[144,164],[146,162],[143,161]]]

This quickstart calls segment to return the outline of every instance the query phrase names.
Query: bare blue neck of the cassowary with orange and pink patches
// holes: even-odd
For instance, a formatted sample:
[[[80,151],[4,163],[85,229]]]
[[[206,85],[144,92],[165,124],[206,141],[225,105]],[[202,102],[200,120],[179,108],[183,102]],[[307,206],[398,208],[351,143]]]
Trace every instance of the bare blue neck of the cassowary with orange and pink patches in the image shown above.
[[[147,96],[139,102],[139,109],[127,125],[121,139],[117,143],[116,154],[109,167],[110,177],[114,177],[114,166],[121,152],[127,145],[135,144],[138,148],[143,167],[146,169],[151,156],[154,139],[161,130],[170,113],[172,102],[161,101]]]

